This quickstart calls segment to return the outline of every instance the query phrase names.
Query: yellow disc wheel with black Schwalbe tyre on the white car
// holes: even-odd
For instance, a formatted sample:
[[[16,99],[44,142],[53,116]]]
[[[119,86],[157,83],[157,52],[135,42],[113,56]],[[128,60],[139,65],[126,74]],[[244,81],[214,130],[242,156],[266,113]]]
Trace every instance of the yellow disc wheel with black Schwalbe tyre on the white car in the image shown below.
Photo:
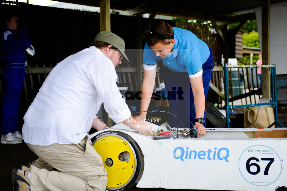
[[[143,160],[136,142],[119,131],[105,131],[95,137],[92,146],[102,157],[107,170],[106,190],[127,190],[142,174]]]

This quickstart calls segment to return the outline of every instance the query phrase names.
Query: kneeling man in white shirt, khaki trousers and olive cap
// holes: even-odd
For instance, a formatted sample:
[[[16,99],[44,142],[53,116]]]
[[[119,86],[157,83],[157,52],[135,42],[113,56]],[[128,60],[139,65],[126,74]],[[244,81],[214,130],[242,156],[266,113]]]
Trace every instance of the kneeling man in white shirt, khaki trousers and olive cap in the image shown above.
[[[129,62],[124,40],[103,31],[53,68],[24,116],[24,141],[39,158],[14,168],[14,190],[105,190],[107,172],[87,134],[106,125],[96,116],[102,103],[115,123],[152,134],[120,95],[115,67],[122,61]]]

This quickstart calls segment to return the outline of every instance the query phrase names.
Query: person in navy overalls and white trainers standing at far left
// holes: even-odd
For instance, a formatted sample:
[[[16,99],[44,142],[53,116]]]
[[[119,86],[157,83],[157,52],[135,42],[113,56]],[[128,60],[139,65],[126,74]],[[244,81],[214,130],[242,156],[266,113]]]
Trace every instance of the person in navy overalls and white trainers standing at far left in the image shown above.
[[[1,132],[3,133],[1,143],[17,144],[23,140],[17,126],[26,75],[24,52],[31,45],[31,39],[25,29],[20,31],[20,36],[14,34],[18,30],[18,17],[16,15],[7,15],[5,22],[6,27],[0,42],[1,58],[5,64],[2,72],[6,85],[1,110]]]

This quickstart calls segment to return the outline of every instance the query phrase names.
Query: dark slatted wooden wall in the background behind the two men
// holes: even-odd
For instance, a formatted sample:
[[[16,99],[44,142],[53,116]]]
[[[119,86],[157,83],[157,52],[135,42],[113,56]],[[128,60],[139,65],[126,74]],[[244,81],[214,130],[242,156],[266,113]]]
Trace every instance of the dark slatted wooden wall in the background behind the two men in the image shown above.
[[[31,58],[29,55],[26,57],[30,68],[28,68],[29,73],[27,72],[25,78],[22,98],[22,114],[25,114],[28,106],[32,103],[33,95],[35,96],[36,94],[33,91],[37,91],[51,69],[56,66],[56,63],[61,62],[61,60],[71,54],[89,47],[90,43],[93,42],[95,35],[100,32],[100,13],[27,5],[27,3],[20,4],[19,6],[2,5],[2,8],[3,10],[1,11],[3,11],[3,14],[13,9],[18,14],[19,24],[27,24],[27,32],[31,36],[32,45],[36,49],[36,57]],[[137,32],[139,30],[135,26],[137,26],[139,21],[144,23],[147,19],[139,16],[113,14],[110,15],[110,18],[110,30],[124,39],[126,55],[130,60],[129,63],[122,63],[116,68],[119,74],[119,82],[129,84],[130,91],[140,91],[140,87],[136,86],[136,84],[141,83],[137,82],[139,79],[137,79],[136,75],[139,70],[137,64],[139,62],[137,52],[139,51],[136,43],[138,40]],[[157,21],[157,19],[154,19],[154,22]],[[176,25],[175,21],[168,22],[172,26]],[[192,27],[196,29],[195,31],[192,30],[192,32],[200,35],[200,38],[212,48],[215,65],[220,66],[221,56],[218,55],[221,55],[220,50],[222,50],[222,46],[213,43],[217,42],[217,35],[212,34],[210,36],[208,28],[204,28],[203,26],[200,28]],[[142,39],[143,45],[145,44],[145,40],[145,38]],[[3,96],[4,83],[1,72],[0,70],[0,93]],[[221,78],[221,71],[217,71],[212,75],[212,82],[219,90],[222,90]],[[158,73],[156,87],[161,82],[162,79]],[[214,97],[211,94],[210,99]],[[217,99],[220,98],[217,96]],[[215,103],[217,100],[213,102]]]

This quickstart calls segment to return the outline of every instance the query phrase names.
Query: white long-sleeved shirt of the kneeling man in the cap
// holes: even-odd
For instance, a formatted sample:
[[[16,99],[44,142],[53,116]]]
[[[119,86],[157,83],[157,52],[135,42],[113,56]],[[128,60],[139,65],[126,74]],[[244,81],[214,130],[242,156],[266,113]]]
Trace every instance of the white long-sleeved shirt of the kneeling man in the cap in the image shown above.
[[[95,46],[52,69],[24,116],[23,138],[32,145],[77,144],[104,102],[115,123],[131,115],[116,85],[114,64]]]

